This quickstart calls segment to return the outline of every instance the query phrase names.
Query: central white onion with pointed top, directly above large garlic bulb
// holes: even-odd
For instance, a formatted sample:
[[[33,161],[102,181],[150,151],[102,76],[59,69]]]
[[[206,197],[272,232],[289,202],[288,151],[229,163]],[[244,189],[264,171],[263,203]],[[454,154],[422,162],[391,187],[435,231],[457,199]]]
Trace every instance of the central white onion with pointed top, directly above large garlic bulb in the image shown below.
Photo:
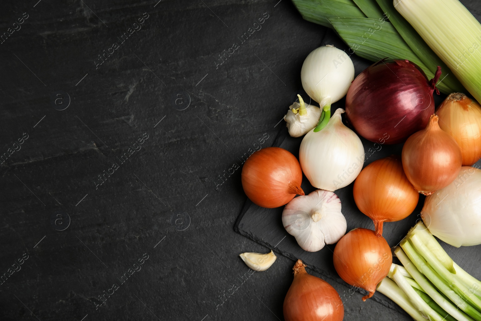
[[[364,147],[351,129],[342,124],[339,108],[327,126],[309,131],[301,143],[299,161],[312,186],[335,191],[351,184],[364,164]]]

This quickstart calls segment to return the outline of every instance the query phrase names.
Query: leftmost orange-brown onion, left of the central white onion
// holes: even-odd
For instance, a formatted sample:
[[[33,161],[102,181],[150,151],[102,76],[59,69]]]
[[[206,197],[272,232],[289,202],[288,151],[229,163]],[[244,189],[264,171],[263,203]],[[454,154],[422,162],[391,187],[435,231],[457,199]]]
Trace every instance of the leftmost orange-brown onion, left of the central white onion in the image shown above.
[[[254,152],[242,167],[242,187],[256,205],[275,208],[285,205],[301,189],[302,170],[297,158],[279,147]]]

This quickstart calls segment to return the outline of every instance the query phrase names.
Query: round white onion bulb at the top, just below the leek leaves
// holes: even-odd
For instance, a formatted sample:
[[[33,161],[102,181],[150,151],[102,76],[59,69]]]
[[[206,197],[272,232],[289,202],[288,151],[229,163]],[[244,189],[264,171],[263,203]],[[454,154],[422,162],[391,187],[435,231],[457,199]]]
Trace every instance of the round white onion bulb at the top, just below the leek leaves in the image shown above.
[[[321,108],[344,97],[354,80],[354,64],[349,56],[334,46],[313,50],[301,70],[302,87]],[[326,108],[324,109],[326,110]]]

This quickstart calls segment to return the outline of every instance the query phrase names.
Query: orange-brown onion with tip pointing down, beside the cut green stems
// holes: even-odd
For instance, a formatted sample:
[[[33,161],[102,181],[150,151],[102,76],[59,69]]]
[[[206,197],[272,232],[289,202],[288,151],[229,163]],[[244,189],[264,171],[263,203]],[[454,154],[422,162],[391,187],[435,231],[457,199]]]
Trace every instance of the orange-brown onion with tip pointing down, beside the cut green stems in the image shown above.
[[[376,286],[388,275],[391,264],[391,248],[372,230],[354,229],[334,248],[334,268],[342,280],[369,292],[363,301],[376,292]]]

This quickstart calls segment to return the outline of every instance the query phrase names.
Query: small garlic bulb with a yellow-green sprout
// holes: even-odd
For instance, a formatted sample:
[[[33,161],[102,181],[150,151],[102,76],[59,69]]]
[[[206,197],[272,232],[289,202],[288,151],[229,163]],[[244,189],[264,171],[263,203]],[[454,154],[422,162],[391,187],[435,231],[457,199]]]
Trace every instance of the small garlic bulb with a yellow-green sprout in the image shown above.
[[[284,116],[289,135],[292,137],[301,137],[312,128],[315,128],[321,116],[319,107],[310,104],[306,105],[301,95],[297,95],[297,97],[299,97],[299,103],[291,104],[289,111]]]

